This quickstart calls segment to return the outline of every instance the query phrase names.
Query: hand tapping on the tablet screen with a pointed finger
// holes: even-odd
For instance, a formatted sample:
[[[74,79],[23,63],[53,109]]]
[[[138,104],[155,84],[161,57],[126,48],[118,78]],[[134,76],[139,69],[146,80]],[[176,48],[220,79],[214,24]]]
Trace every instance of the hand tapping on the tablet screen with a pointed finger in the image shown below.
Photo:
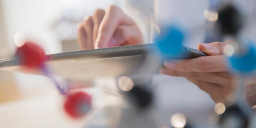
[[[85,17],[78,25],[78,43],[82,49],[132,45],[142,43],[142,35],[135,22],[112,5]]]

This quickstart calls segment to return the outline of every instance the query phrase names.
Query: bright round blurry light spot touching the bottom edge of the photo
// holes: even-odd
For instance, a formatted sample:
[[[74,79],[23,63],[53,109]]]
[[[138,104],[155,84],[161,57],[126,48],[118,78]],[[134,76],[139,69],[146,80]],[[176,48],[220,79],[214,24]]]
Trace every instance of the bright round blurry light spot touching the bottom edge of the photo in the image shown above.
[[[184,128],[186,123],[187,119],[185,115],[181,113],[175,113],[171,116],[171,125],[174,126],[174,128]]]

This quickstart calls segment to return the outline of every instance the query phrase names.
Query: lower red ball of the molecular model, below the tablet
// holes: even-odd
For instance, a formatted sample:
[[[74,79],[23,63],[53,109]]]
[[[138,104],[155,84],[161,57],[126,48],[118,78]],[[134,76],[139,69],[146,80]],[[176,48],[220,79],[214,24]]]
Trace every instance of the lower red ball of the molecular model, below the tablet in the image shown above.
[[[91,96],[82,91],[68,94],[64,108],[71,117],[82,117],[91,110]]]

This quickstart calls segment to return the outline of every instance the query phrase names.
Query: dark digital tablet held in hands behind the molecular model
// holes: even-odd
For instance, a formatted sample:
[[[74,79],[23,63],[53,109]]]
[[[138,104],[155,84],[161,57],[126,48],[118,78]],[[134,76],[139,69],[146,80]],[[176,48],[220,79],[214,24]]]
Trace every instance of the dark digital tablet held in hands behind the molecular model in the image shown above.
[[[157,55],[154,44],[117,46],[93,50],[81,50],[48,55],[46,66],[52,74],[78,81],[97,77],[154,74],[163,66],[164,60]],[[207,54],[182,46],[186,56],[173,59],[191,59]],[[0,60],[0,69],[19,70],[12,59]]]

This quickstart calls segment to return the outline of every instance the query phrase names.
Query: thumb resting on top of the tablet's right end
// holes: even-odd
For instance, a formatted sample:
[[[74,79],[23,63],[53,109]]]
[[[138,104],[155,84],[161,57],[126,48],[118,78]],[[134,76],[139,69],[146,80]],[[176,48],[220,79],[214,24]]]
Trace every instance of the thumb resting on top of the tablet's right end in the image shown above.
[[[213,42],[213,43],[200,43],[197,46],[197,49],[205,52],[208,55],[223,55],[223,49],[226,44],[230,43],[230,41],[226,42]]]

